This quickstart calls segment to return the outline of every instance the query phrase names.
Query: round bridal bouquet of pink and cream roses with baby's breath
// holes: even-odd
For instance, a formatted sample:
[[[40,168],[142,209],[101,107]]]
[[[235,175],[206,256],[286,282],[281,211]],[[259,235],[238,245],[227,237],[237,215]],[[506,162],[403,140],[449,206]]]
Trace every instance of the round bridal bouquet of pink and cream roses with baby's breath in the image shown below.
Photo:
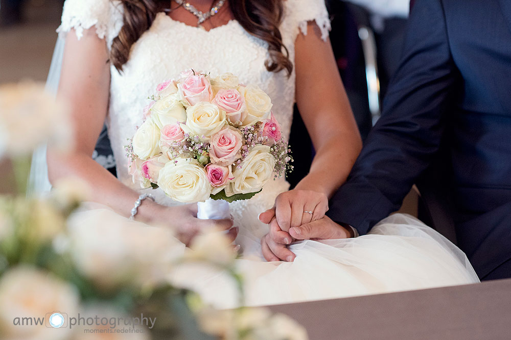
[[[249,199],[287,170],[291,156],[270,97],[224,73],[184,71],[158,85],[126,146],[142,188],[184,203]]]

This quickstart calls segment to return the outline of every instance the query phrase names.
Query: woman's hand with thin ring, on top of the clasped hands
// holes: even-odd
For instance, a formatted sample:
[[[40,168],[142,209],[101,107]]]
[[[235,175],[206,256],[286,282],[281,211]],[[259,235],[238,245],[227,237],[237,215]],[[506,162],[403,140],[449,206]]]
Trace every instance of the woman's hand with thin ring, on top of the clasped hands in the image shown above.
[[[328,197],[312,190],[290,190],[275,199],[275,217],[278,226],[286,232],[317,221],[328,211]]]

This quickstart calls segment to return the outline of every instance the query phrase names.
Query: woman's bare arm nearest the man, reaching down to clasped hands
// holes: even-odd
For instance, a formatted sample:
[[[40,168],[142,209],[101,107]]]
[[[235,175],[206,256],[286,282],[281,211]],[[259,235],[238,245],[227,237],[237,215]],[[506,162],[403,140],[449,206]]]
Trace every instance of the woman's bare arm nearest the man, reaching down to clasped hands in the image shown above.
[[[307,226],[324,216],[328,199],[344,183],[362,149],[330,42],[321,40],[313,22],[308,32],[298,35],[295,44],[296,102],[316,155],[309,174],[296,188],[278,195],[275,208],[260,215],[263,223],[270,224],[270,232],[261,240],[263,255],[269,261],[294,259],[286,248],[292,242],[289,229]],[[349,229],[338,234],[353,236]]]

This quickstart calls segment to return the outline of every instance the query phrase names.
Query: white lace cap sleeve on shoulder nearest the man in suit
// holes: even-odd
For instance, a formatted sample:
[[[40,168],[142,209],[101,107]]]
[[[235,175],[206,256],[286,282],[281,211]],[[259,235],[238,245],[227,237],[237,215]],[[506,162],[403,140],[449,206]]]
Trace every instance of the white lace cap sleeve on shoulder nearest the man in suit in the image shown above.
[[[327,39],[330,19],[324,0],[283,0],[283,7],[281,31],[294,39],[300,32],[307,35],[308,22],[315,21],[323,40]]]

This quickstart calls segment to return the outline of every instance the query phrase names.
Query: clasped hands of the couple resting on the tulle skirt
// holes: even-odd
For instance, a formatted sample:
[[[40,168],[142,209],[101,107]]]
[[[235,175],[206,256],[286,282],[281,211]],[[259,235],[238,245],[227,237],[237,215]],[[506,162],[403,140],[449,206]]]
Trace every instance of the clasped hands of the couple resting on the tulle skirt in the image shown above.
[[[270,231],[261,240],[267,261],[294,260],[296,255],[288,245],[301,240],[330,240],[352,237],[347,230],[325,216],[328,197],[310,190],[290,190],[275,200],[275,207],[259,216],[270,225]],[[311,214],[312,213],[312,214]]]

